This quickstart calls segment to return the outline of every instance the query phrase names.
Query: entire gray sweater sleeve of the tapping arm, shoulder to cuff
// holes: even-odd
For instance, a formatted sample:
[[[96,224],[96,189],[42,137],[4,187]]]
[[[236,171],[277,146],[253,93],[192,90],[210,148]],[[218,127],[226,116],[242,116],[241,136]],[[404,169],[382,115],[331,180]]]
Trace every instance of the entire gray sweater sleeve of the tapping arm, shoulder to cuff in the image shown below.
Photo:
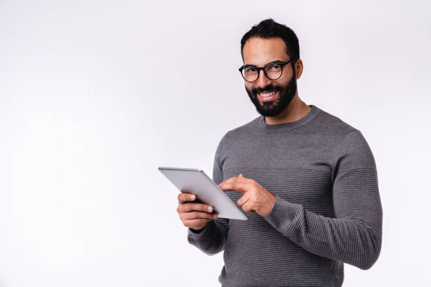
[[[370,269],[382,245],[382,205],[373,153],[357,129],[342,136],[332,156],[335,217],[276,196],[265,219],[308,252]]]

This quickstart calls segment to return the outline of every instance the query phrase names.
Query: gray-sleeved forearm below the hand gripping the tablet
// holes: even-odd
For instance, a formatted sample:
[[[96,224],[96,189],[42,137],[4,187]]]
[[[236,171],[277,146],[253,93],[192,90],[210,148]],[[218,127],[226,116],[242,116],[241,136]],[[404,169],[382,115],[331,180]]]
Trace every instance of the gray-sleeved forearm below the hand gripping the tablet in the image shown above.
[[[225,249],[228,228],[227,219],[211,220],[199,233],[188,230],[187,241],[207,255],[215,255]]]

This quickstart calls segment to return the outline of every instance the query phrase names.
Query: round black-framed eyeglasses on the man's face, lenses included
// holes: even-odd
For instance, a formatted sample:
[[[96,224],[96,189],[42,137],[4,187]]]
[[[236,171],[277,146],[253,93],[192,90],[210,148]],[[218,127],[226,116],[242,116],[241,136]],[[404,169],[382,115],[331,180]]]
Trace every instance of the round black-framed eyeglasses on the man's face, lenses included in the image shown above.
[[[258,79],[261,70],[263,70],[263,74],[265,74],[268,79],[278,79],[283,73],[283,67],[290,62],[292,62],[292,60],[288,60],[287,62],[275,61],[268,63],[265,67],[261,68],[258,68],[255,65],[243,65],[238,70],[246,82],[255,82]]]

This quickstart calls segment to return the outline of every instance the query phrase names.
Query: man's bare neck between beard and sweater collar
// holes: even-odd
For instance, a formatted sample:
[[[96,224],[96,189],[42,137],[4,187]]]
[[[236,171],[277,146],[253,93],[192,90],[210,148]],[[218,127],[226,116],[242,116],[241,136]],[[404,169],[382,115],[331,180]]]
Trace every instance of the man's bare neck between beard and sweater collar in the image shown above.
[[[311,107],[308,107],[308,113],[310,113]],[[304,101],[299,98],[298,93],[292,98],[289,106],[285,108],[279,115],[275,117],[265,117],[267,125],[280,125],[285,122],[296,122],[307,114],[307,106]]]

